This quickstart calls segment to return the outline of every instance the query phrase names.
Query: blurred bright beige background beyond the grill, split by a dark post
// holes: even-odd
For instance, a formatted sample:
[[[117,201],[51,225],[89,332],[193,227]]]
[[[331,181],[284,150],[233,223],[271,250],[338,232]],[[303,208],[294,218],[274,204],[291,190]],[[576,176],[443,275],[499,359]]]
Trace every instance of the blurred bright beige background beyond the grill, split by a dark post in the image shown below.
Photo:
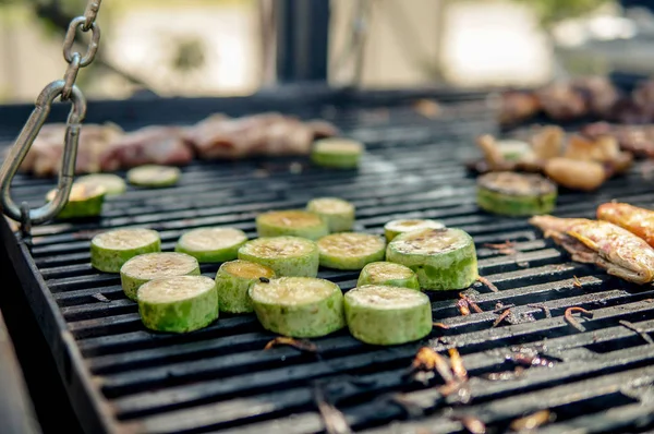
[[[329,0],[318,0],[329,1]],[[85,0],[0,0],[0,104],[33,101],[65,70],[61,44]],[[332,85],[533,86],[654,71],[651,1],[331,0]],[[111,0],[90,98],[246,95],[275,77],[272,0]],[[360,31],[360,32],[358,32]],[[359,67],[358,67],[359,64]],[[359,71],[359,72],[356,72]]]

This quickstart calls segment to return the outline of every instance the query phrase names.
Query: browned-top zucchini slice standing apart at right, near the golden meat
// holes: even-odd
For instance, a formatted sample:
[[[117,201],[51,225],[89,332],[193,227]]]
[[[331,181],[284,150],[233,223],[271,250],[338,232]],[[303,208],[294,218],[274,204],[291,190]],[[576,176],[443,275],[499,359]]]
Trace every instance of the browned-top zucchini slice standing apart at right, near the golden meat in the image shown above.
[[[556,205],[556,184],[535,173],[492,172],[477,179],[477,205],[488,213],[548,214]]]

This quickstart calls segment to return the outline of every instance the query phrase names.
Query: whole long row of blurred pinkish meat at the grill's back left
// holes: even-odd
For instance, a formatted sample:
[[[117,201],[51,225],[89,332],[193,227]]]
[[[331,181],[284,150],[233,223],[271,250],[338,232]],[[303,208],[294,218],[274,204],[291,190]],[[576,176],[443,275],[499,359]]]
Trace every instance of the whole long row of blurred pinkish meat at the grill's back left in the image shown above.
[[[38,177],[55,176],[63,153],[65,124],[47,124],[21,165]],[[331,123],[302,122],[280,113],[232,119],[213,114],[191,128],[145,126],[124,133],[113,124],[85,124],[80,134],[76,173],[129,169],[135,166],[189,164],[202,158],[308,154],[315,138],[337,135]]]

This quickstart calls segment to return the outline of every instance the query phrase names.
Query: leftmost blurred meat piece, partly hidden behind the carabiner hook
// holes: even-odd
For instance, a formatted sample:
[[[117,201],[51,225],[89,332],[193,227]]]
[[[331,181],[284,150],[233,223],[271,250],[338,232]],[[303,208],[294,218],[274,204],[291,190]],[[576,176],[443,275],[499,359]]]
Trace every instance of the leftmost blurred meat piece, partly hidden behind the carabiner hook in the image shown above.
[[[112,123],[85,124],[80,133],[75,173],[100,171],[100,154],[123,134],[123,131]],[[21,164],[21,170],[37,177],[51,177],[59,173],[64,136],[64,123],[44,125]]]

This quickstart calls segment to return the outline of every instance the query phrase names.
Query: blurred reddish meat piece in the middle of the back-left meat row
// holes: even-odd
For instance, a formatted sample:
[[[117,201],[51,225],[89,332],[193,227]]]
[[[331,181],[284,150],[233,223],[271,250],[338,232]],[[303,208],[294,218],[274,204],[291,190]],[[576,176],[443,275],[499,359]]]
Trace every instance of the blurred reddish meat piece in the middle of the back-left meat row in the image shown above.
[[[145,126],[109,143],[99,164],[101,170],[111,171],[148,164],[183,166],[192,159],[180,128]]]

